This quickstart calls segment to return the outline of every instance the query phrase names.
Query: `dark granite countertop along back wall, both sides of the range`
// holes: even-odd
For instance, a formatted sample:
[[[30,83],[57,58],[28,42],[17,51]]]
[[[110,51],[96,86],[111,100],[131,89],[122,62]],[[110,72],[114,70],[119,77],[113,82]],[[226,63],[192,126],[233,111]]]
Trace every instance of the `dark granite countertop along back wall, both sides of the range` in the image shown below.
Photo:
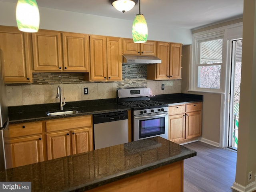
[[[175,104],[188,104],[191,102],[201,102],[203,101],[202,95],[196,94],[164,94],[164,95],[154,95],[150,99],[158,100],[164,102],[169,106]],[[131,108],[127,106],[122,106],[116,103],[116,99],[102,99],[102,100],[88,100],[88,101],[76,101],[76,102],[66,102],[64,106],[64,111],[66,110],[80,110],[81,113],[68,114],[62,116],[47,116],[46,112],[56,112],[59,110],[59,103],[50,104],[35,104],[35,105],[25,105],[25,106],[12,106],[8,107],[10,124],[50,120],[65,117],[101,114],[116,111],[130,110]]]

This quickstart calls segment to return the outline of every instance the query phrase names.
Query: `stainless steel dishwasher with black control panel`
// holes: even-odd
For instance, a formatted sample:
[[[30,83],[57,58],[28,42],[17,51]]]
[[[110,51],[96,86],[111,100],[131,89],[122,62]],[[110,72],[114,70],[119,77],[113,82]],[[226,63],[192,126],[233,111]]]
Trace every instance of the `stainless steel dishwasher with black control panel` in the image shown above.
[[[128,142],[128,113],[111,112],[93,116],[94,149]]]

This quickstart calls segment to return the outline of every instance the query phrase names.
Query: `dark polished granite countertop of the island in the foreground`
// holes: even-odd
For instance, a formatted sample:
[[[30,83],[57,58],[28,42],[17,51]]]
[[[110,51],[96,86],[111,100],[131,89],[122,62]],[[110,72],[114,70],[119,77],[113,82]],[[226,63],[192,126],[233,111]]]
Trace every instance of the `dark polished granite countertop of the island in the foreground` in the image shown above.
[[[0,181],[32,182],[32,192],[84,192],[196,156],[154,137],[0,171]]]

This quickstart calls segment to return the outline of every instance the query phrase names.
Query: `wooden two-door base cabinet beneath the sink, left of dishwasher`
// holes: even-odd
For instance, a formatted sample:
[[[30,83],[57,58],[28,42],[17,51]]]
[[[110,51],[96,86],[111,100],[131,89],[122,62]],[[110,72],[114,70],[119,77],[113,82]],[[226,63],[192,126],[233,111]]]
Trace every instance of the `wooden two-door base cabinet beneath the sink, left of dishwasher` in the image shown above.
[[[46,121],[47,159],[93,150],[92,116]]]

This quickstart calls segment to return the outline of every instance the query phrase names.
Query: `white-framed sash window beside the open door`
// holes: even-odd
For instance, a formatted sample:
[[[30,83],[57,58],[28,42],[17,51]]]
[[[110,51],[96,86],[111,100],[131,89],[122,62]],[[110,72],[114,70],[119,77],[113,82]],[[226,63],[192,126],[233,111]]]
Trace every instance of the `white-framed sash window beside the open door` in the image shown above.
[[[190,90],[223,92],[223,39],[223,33],[194,38]]]

